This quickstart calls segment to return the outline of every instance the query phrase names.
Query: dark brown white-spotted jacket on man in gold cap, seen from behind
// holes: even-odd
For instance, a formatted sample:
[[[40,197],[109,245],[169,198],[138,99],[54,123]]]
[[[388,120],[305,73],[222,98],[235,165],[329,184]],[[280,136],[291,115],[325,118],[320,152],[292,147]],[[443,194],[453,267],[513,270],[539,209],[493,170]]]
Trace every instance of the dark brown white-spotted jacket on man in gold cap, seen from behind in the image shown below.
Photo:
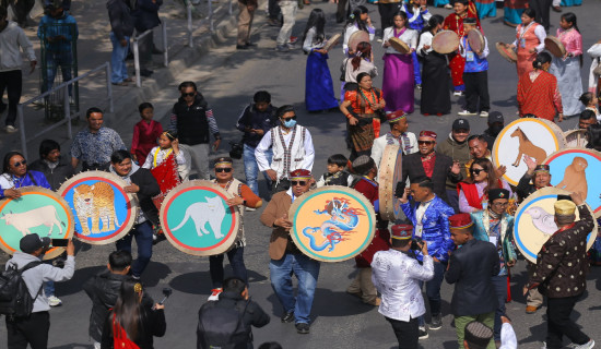
[[[587,287],[587,236],[594,221],[585,205],[578,206],[580,220],[574,227],[555,232],[541,248],[537,270],[529,288],[539,285],[539,291],[549,298],[574,297]]]

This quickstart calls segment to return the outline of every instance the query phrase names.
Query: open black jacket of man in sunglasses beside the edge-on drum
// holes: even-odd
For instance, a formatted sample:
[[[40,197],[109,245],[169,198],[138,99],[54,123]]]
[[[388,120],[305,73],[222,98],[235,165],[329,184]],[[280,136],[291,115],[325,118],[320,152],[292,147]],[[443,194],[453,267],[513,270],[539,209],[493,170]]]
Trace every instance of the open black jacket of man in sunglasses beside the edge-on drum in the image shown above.
[[[447,204],[449,200],[447,198],[446,182],[447,178],[453,182],[458,183],[462,176],[461,171],[459,174],[455,174],[450,171],[452,166],[452,159],[446,155],[443,155],[438,152],[436,153],[436,159],[434,160],[434,171],[432,172],[432,182],[434,183],[434,193],[438,197],[443,198]],[[402,161],[402,179],[401,183],[404,183],[409,178],[410,182],[413,182],[416,178],[425,177],[426,172],[422,165],[422,155],[420,153],[413,153],[403,156]]]

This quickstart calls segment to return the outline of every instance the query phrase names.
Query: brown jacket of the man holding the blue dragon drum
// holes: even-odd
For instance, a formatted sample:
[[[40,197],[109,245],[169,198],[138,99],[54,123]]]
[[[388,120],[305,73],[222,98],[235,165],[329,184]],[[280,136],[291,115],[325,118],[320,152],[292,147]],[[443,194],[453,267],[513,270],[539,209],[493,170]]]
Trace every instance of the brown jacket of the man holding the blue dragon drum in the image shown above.
[[[292,197],[286,192],[279,192],[271,197],[271,201],[261,214],[261,222],[273,228],[271,239],[269,239],[269,256],[274,261],[281,260],[286,250],[288,252],[298,252],[298,249],[290,237],[290,232],[282,227],[273,227],[275,219],[287,215],[290,206],[292,206]]]

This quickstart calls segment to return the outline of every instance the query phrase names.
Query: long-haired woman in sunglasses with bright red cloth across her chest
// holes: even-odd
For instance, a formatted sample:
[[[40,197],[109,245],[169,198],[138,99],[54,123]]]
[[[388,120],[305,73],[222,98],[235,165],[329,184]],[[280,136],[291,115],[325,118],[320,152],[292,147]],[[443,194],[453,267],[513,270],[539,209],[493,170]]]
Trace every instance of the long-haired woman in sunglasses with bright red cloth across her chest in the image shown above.
[[[509,191],[509,196],[511,196],[509,183],[497,177],[493,164],[487,158],[474,159],[470,166],[470,174],[467,180],[457,184],[459,210],[461,213],[469,214],[483,209],[482,204],[488,201],[491,189],[506,189]]]

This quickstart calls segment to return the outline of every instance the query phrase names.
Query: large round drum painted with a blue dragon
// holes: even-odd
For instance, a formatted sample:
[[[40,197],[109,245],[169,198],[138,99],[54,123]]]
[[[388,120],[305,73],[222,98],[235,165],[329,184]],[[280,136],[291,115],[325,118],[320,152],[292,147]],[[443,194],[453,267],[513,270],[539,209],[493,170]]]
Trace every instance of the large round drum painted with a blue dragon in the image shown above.
[[[307,256],[342,262],[365,250],[376,232],[372,203],[354,189],[328,185],[297,197],[290,207],[290,236]]]

